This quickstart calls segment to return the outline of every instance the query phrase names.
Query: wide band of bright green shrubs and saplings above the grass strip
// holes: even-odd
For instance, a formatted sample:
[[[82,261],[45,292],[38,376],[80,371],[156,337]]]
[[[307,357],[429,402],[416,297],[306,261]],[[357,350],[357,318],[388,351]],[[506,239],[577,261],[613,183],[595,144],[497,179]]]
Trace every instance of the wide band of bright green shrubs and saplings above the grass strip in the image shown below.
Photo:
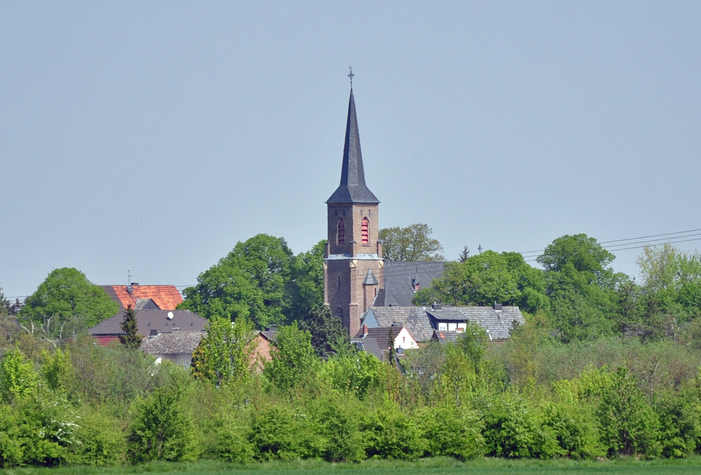
[[[470,325],[380,362],[351,346],[322,358],[292,324],[259,371],[250,323],[226,322],[190,369],[85,337],[22,340],[0,361],[0,466],[701,451],[700,353],[673,341],[564,344],[536,319],[503,345]]]

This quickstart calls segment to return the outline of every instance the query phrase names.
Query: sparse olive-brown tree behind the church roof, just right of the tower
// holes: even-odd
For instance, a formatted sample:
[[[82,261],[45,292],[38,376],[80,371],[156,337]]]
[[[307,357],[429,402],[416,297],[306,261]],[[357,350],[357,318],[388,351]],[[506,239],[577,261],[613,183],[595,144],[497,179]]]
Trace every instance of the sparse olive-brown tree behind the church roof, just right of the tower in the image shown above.
[[[427,224],[414,223],[406,228],[379,230],[383,257],[386,261],[444,261],[442,245],[430,235]]]

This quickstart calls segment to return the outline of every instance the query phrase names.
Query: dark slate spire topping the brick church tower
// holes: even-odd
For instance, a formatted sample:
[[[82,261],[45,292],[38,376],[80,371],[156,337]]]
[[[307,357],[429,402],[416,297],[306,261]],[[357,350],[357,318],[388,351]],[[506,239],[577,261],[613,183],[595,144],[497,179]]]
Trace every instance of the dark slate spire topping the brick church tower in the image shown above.
[[[367,186],[365,172],[362,170],[362,153],[360,153],[360,135],[358,135],[358,118],[355,117],[355,99],[351,88],[348,100],[348,122],[346,122],[346,144],[343,146],[343,166],[341,167],[341,184],[327,203],[379,203]]]

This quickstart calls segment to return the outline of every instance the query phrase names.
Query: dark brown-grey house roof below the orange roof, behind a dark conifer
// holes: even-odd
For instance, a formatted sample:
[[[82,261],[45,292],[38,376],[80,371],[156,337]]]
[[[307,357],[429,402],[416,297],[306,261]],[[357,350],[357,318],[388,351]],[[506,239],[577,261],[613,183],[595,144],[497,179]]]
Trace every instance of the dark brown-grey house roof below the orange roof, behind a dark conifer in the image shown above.
[[[114,317],[103,320],[89,329],[88,333],[94,336],[123,335],[121,324],[124,321],[124,312],[125,310],[122,310]],[[136,312],[137,333],[141,336],[147,336],[151,330],[166,333],[173,331],[174,328],[179,328],[182,331],[203,331],[205,329],[207,320],[196,313],[189,310],[172,310],[172,314],[172,319],[168,319],[168,310]]]

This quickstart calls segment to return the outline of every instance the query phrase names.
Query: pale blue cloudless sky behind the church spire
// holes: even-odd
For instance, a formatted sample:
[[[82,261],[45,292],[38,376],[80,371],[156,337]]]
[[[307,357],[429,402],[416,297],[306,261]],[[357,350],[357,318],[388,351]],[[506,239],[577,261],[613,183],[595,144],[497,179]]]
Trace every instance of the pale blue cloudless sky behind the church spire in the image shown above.
[[[700,2],[240,3],[0,4],[6,296],[64,266],[194,284],[257,233],[311,248],[349,64],[381,226],[428,223],[449,259],[701,228]]]

